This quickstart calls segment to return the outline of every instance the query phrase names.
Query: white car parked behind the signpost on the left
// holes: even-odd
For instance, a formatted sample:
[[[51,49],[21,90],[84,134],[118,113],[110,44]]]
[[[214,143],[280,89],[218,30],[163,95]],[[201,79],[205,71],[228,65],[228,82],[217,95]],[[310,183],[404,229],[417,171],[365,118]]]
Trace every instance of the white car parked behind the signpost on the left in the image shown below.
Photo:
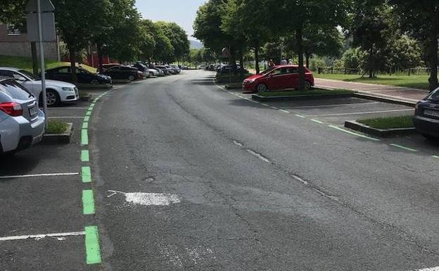
[[[0,67],[0,76],[12,77],[26,89],[29,89],[39,101],[42,101],[42,81],[36,75],[19,68]],[[75,84],[56,80],[46,80],[47,106],[79,100],[79,92]]]

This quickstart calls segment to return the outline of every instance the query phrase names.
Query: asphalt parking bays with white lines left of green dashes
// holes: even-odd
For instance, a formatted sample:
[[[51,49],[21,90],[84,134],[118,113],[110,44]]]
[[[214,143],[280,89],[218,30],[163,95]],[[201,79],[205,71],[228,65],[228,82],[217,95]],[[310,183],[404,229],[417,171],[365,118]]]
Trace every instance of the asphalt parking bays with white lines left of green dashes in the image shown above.
[[[106,90],[87,92],[94,99]],[[38,144],[0,158],[1,217],[7,218],[0,220],[1,270],[97,268],[86,260],[85,227],[94,215],[84,215],[82,193],[91,184],[83,182],[80,159],[82,125],[91,104],[49,108],[50,120],[73,124],[71,144]]]

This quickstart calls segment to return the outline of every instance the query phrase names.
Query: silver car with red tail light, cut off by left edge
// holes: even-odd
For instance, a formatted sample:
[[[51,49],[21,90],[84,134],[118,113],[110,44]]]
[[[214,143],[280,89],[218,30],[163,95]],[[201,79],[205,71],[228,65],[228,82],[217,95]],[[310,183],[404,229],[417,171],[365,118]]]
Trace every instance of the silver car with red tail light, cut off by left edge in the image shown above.
[[[0,77],[0,154],[37,144],[43,138],[44,121],[32,92],[12,78]]]

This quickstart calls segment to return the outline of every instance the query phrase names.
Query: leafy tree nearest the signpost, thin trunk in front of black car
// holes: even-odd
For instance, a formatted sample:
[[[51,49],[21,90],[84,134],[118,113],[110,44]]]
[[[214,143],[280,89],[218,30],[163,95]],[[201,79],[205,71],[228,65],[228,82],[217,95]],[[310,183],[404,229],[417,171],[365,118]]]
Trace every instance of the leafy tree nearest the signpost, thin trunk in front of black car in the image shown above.
[[[72,80],[77,82],[76,54],[93,37],[96,14],[101,12],[103,0],[52,0],[55,6],[56,27],[70,53]]]

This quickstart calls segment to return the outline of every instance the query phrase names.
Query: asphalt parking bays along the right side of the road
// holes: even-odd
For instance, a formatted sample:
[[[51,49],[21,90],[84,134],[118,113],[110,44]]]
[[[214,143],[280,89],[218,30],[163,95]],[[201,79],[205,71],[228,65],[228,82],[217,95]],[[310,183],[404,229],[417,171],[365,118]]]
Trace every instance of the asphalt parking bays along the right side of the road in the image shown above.
[[[252,101],[251,94],[242,94],[240,89],[229,90],[228,92]],[[346,120],[414,114],[414,108],[409,106],[354,97],[306,101],[252,102],[278,110],[280,113],[291,113],[291,118],[304,118],[315,122],[316,125],[329,125],[333,128],[334,132],[351,133],[352,136],[355,134],[362,135],[362,133],[345,128]],[[374,139],[374,137],[371,138]],[[421,134],[414,133],[405,136],[381,138],[379,141],[384,144],[390,144],[401,151],[416,152],[422,156],[435,156],[435,158],[438,158],[439,143],[428,141]]]

